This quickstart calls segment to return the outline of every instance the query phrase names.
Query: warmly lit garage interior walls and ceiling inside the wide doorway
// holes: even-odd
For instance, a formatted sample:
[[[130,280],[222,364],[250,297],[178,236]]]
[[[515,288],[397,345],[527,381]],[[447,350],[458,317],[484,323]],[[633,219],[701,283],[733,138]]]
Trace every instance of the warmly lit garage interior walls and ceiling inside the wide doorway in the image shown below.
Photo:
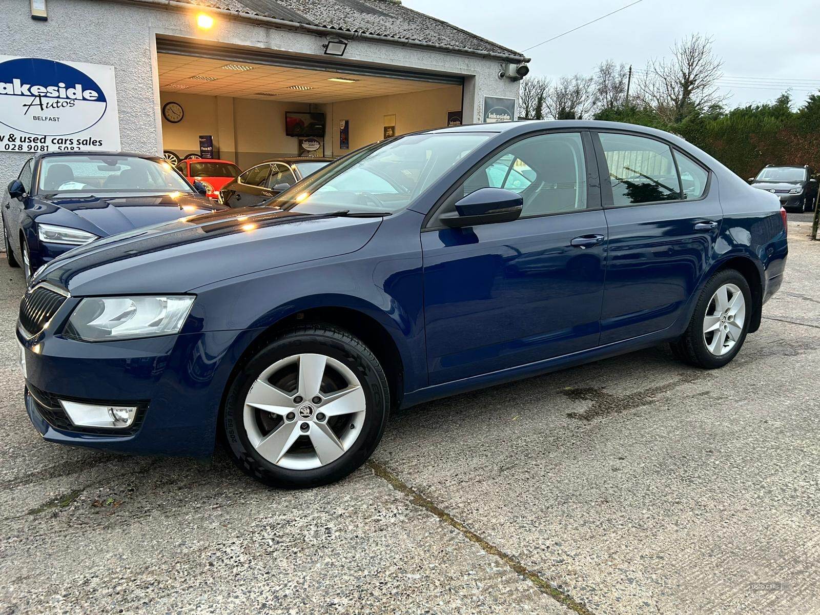
[[[157,46],[161,105],[178,103],[184,116],[178,122],[162,118],[162,148],[179,157],[199,154],[200,135],[212,136],[214,157],[243,170],[300,155],[298,137],[285,134],[285,112],[324,114],[322,147],[311,155],[328,157],[384,139],[385,126],[403,134],[445,126],[449,112],[461,115],[462,80],[449,75],[403,75],[311,59],[314,69],[287,57],[248,62],[224,50],[194,55],[163,47],[168,45]],[[343,149],[339,126],[345,120]]]

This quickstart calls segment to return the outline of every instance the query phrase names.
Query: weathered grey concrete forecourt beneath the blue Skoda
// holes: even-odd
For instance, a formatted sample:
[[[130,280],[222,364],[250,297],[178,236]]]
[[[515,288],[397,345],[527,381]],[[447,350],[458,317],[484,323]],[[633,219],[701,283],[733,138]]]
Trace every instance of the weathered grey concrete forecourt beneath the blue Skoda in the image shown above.
[[[0,262],[0,613],[820,613],[808,230],[721,371],[657,348],[429,403],[301,492],[40,440]]]

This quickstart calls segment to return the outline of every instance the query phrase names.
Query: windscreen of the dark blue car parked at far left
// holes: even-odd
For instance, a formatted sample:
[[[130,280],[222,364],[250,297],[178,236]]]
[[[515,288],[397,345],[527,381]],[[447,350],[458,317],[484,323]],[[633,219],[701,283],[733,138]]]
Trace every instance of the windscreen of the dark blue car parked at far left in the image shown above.
[[[155,158],[84,154],[48,156],[40,162],[41,192],[191,192],[168,162]]]

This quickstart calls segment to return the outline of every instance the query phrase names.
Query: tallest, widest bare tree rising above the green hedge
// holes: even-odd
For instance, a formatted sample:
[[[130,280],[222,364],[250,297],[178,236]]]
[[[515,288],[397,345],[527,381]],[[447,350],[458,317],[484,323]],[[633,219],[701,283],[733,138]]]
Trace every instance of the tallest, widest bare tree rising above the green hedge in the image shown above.
[[[723,62],[713,54],[712,42],[710,37],[691,34],[675,43],[671,58],[649,62],[636,84],[636,99],[669,122],[720,105],[725,97],[717,80],[723,76]]]

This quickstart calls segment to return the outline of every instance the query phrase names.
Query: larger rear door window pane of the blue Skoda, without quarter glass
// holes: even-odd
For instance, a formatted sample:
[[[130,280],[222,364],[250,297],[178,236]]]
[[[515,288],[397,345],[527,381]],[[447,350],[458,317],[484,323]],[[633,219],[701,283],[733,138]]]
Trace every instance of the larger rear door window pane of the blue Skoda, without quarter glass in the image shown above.
[[[632,134],[599,133],[599,137],[615,207],[681,199],[672,149],[667,144]]]

